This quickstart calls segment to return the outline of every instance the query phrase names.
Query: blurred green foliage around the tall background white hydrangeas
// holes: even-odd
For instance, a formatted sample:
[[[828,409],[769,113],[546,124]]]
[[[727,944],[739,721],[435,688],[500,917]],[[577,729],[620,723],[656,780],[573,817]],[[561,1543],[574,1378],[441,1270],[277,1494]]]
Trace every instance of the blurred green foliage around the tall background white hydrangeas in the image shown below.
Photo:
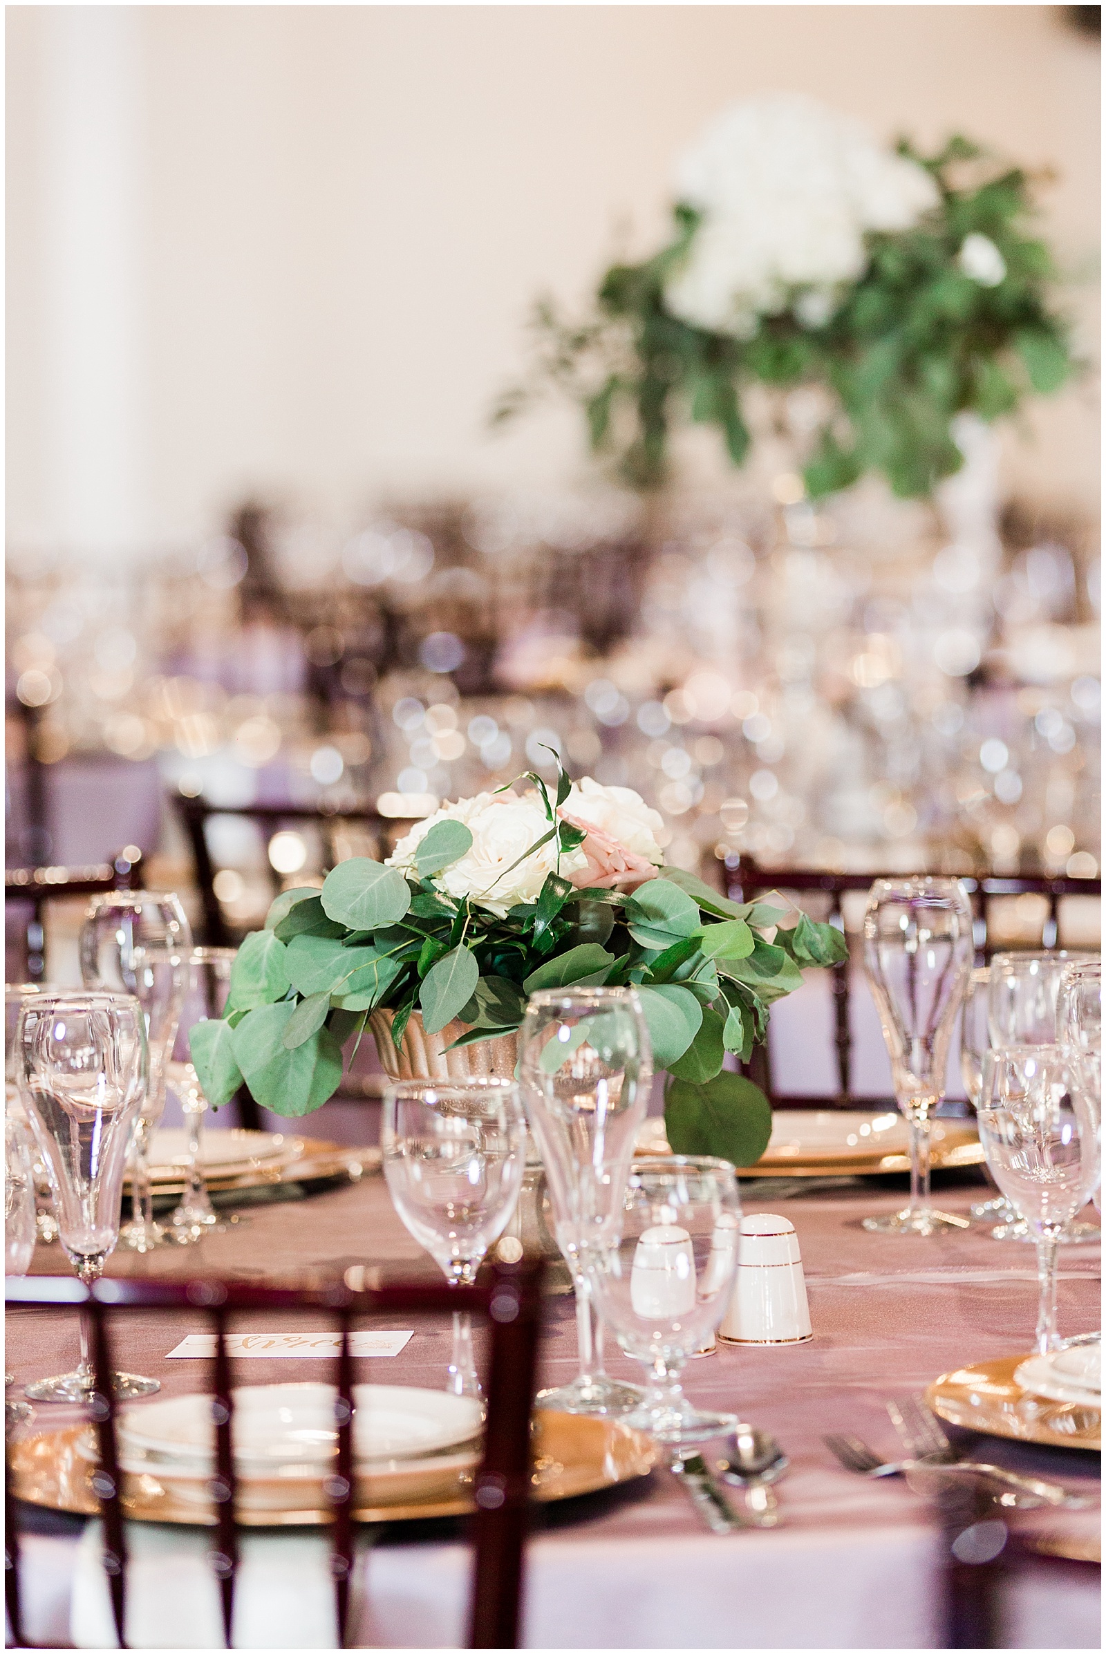
[[[865,273],[822,326],[803,326],[789,306],[734,339],[671,316],[665,284],[699,223],[678,205],[670,245],[641,265],[613,265],[587,323],[565,323],[549,301],[537,308],[531,384],[509,392],[494,418],[555,385],[582,405],[592,450],[632,486],[655,488],[668,476],[670,433],[681,420],[716,427],[742,465],[747,387],[818,384],[835,409],[812,442],[808,495],[848,488],[868,471],[896,495],[929,495],[962,463],[951,435],[957,414],[1008,415],[1028,392],[1058,390],[1075,364],[1066,323],[1050,308],[1048,248],[1030,233],[1025,174],[995,174],[959,136],[929,157],[906,141],[899,151],[926,167],[941,202],[911,230],[868,237]],[[1002,255],[995,286],[959,268],[969,235]]]

